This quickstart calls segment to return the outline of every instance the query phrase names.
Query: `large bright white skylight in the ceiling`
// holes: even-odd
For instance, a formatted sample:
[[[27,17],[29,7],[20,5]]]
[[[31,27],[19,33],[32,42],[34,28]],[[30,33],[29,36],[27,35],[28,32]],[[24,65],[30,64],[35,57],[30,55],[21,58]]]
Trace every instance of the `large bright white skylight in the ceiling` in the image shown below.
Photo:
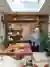
[[[6,0],[13,12],[39,12],[45,0]]]

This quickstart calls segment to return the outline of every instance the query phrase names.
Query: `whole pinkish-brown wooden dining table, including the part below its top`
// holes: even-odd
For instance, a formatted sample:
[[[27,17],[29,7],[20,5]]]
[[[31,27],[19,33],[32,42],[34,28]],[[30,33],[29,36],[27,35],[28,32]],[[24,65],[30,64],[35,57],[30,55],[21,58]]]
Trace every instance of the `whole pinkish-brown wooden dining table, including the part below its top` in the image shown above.
[[[32,55],[32,50],[29,45],[25,45],[24,49],[15,48],[14,51],[11,51],[12,47],[8,47],[5,51],[1,51],[0,55],[8,55],[15,59],[21,59],[24,56]]]

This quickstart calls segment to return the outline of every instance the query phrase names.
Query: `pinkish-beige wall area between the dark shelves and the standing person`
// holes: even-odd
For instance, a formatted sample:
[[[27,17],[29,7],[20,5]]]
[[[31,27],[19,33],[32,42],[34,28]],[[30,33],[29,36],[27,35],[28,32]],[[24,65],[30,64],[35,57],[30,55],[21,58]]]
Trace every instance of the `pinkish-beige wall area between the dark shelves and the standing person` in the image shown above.
[[[28,36],[29,36],[29,34],[30,34],[30,32],[31,32],[31,25],[30,24],[23,24],[23,33],[22,33],[22,35],[23,35],[23,38],[25,39],[25,38],[27,38]]]

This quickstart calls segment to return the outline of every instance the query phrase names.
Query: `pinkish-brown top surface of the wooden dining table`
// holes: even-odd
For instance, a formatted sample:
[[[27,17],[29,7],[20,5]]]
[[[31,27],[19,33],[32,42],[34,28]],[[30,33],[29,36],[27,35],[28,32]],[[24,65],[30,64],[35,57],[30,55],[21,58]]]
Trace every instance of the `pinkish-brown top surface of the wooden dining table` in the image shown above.
[[[24,49],[15,49],[15,51],[10,51],[12,48],[8,47],[5,51],[1,51],[0,55],[31,55],[32,51],[29,45],[25,45]]]

